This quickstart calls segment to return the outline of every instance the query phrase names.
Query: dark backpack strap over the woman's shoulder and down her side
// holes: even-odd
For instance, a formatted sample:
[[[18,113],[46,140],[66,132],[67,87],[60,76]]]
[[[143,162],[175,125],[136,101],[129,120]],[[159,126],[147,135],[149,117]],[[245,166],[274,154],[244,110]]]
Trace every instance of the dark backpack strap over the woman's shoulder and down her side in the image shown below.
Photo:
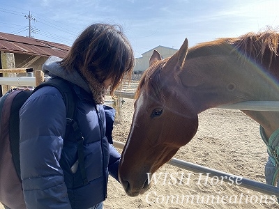
[[[84,164],[84,146],[83,146],[84,137],[82,136],[82,132],[80,131],[79,125],[75,121],[75,111],[76,111],[75,91],[73,90],[72,85],[65,79],[61,79],[60,77],[52,77],[51,79],[47,80],[47,82],[37,86],[33,90],[33,92],[37,91],[39,88],[42,88],[43,86],[53,86],[57,88],[63,97],[63,101],[65,102],[66,105],[66,120],[67,120],[66,132],[68,132],[69,127],[73,128],[75,140],[77,141],[77,156],[78,156],[78,163],[80,166],[80,172],[82,174],[82,181],[83,181],[83,185],[86,185],[88,183],[88,180],[87,180],[85,164]]]

